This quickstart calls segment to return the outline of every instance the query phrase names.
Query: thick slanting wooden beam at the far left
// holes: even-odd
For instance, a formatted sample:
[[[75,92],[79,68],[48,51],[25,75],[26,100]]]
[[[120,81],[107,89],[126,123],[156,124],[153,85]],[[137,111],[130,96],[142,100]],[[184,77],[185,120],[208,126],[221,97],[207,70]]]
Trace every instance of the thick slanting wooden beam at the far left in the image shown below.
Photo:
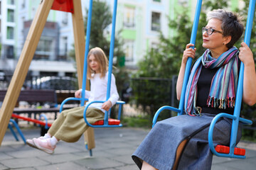
[[[41,1],[0,111],[0,146],[54,0]]]

